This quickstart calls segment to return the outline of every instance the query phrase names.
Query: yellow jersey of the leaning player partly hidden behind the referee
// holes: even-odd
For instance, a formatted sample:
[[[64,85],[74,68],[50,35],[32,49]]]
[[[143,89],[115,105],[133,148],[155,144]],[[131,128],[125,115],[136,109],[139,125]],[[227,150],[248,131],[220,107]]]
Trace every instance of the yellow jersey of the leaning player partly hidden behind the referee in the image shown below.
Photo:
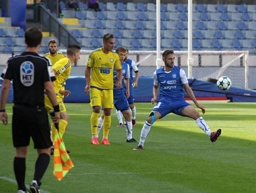
[[[71,63],[70,60],[65,57],[57,61],[52,68],[57,72],[56,80],[53,82],[54,91],[55,93],[59,93],[62,84],[68,79],[70,70],[71,70]]]

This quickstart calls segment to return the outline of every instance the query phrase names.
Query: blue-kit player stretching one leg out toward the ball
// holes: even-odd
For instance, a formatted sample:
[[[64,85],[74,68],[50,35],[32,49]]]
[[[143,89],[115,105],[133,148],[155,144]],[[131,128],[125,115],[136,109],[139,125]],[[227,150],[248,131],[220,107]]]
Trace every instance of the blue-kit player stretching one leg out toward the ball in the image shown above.
[[[210,137],[212,142],[216,142],[217,138],[220,136],[221,129],[212,133],[203,117],[201,117],[192,105],[185,101],[183,88],[189,98],[196,104],[196,107],[200,108],[203,114],[205,113],[204,107],[198,104],[192,89],[188,85],[188,79],[184,70],[174,66],[174,59],[175,56],[173,50],[165,50],[163,53],[164,67],[161,67],[154,72],[154,98],[151,99],[152,104],[156,102],[158,89],[160,90],[160,98],[143,125],[140,134],[140,144],[133,150],[143,149],[145,139],[148,136],[152,124],[156,122],[157,119],[160,119],[169,113],[195,119],[198,127]]]

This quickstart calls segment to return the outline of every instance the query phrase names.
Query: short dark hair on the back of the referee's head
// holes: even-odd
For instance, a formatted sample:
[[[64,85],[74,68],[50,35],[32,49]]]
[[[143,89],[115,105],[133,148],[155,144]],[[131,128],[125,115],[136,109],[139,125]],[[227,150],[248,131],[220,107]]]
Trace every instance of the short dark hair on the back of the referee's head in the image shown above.
[[[37,27],[30,27],[25,32],[25,42],[28,47],[36,47],[42,40],[43,34]]]

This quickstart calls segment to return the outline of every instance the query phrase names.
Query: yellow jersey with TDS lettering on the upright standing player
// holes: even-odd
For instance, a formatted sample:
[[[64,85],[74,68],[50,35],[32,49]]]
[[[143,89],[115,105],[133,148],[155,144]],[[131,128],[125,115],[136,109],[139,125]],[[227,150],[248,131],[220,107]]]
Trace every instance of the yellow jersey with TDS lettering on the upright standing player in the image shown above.
[[[93,50],[87,59],[87,66],[91,70],[91,88],[99,90],[113,89],[113,69],[122,69],[119,56],[111,51],[108,54],[102,52],[102,48]]]

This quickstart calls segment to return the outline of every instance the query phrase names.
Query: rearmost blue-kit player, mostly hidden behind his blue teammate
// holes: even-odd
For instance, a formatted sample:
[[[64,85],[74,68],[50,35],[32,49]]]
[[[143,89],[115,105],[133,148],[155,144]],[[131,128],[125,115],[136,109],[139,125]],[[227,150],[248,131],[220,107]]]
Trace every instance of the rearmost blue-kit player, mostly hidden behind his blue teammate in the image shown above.
[[[130,68],[130,78],[129,78],[130,97],[127,100],[128,100],[131,112],[132,112],[132,125],[135,126],[136,125],[136,107],[134,105],[133,88],[136,88],[138,86],[138,80],[139,80],[140,72],[139,72],[138,67],[136,66],[135,62],[133,60],[127,58],[129,51],[128,51],[127,48],[125,48],[125,49],[127,50],[127,52],[126,52],[126,57],[124,58],[124,62],[127,63],[129,65],[129,68]],[[134,71],[136,73],[134,82],[132,82],[132,71]],[[125,92],[126,92],[126,87],[124,85],[124,93]],[[121,111],[116,110],[116,115],[117,115],[117,118],[119,120],[119,125],[117,125],[117,127],[123,127],[123,118],[122,118]]]

